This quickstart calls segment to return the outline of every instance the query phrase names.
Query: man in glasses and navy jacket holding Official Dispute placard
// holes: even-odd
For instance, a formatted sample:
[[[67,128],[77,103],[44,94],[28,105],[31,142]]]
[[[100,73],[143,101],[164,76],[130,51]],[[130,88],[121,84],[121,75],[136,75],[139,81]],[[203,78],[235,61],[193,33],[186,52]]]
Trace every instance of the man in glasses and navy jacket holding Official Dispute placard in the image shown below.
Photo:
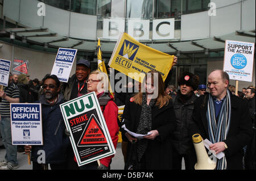
[[[65,124],[60,111],[60,104],[64,103],[64,99],[59,91],[60,81],[56,75],[43,78],[44,94],[40,96],[39,103],[42,104],[44,144],[32,146],[33,170],[47,169],[48,163],[52,170],[67,169],[69,138],[65,135]],[[31,146],[25,146],[25,149],[28,152]]]

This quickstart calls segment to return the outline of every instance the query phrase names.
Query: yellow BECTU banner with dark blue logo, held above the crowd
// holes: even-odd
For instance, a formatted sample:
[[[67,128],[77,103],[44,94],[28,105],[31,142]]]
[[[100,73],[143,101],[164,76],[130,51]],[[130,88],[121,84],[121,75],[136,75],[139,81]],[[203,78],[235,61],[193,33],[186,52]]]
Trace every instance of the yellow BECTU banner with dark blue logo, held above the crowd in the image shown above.
[[[139,82],[142,82],[145,73],[157,70],[164,81],[172,62],[174,56],[147,47],[127,33],[121,33],[108,65]]]

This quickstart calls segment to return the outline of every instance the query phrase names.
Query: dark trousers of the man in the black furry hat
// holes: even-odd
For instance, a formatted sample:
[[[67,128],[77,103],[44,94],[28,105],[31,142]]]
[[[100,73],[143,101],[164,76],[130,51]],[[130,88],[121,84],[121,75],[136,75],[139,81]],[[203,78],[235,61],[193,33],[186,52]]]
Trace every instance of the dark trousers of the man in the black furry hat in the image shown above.
[[[191,150],[187,154],[179,154],[175,149],[172,149],[172,169],[181,170],[182,158],[185,162],[185,170],[195,170],[196,153]]]

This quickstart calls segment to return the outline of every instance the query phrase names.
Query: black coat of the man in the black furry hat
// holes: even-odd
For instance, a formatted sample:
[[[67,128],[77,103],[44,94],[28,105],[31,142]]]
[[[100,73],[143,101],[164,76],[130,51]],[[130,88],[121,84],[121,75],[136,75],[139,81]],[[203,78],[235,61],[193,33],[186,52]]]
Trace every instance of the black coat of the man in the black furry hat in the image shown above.
[[[177,153],[187,154],[188,151],[194,149],[192,137],[188,132],[188,127],[192,120],[194,103],[197,96],[192,94],[186,103],[182,102],[180,96],[180,92],[178,92],[175,99],[173,99],[177,128],[172,136],[172,143],[174,144],[174,149]]]

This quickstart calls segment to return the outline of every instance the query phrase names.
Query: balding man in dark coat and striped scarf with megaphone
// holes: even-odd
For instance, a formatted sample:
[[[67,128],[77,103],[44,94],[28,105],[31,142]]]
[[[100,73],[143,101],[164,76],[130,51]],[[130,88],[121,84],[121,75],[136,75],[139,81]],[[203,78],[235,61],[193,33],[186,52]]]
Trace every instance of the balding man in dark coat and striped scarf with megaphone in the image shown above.
[[[225,154],[217,159],[216,170],[242,169],[242,148],[252,135],[247,102],[232,95],[228,86],[229,75],[213,70],[208,76],[210,94],[195,101],[192,115],[191,136],[199,133],[213,143],[210,150]]]

